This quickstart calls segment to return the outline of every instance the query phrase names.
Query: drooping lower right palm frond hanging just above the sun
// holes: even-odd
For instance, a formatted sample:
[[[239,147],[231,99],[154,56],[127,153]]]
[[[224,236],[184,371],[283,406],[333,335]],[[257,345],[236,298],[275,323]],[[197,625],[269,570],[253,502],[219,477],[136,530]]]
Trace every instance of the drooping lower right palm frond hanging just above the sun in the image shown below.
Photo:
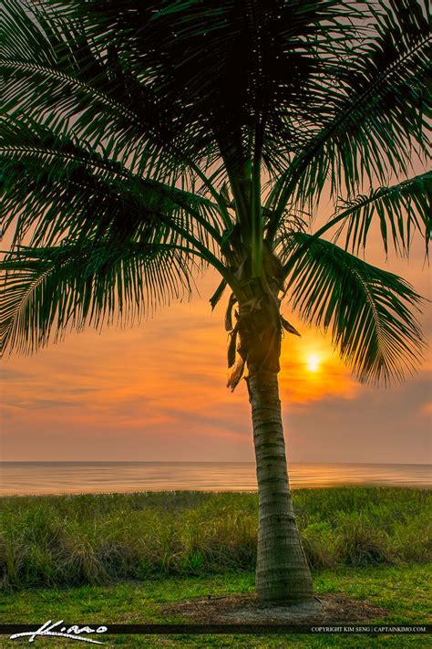
[[[334,347],[361,382],[387,383],[412,372],[424,345],[413,315],[422,298],[401,277],[305,233],[287,237],[288,263],[302,247],[287,281],[293,309],[331,330]]]

